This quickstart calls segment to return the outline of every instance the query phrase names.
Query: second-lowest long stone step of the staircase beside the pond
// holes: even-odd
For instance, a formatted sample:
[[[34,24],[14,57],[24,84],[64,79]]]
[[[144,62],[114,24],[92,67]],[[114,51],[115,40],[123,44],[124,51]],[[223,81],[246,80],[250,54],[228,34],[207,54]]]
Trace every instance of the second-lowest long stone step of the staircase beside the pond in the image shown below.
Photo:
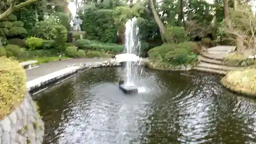
[[[210,69],[216,69],[216,70],[224,70],[224,71],[233,71],[233,70],[244,69],[243,67],[231,67],[231,66],[210,64],[210,63],[205,63],[205,62],[201,62],[199,65],[197,65],[197,67],[210,68]]]

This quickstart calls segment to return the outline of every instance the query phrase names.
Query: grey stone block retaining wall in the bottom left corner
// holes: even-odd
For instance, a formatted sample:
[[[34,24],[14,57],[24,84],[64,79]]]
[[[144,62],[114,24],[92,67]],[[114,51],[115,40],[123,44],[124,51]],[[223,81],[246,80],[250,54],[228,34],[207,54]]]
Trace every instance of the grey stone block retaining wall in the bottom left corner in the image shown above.
[[[44,122],[29,94],[4,120],[0,121],[0,144],[41,144]]]

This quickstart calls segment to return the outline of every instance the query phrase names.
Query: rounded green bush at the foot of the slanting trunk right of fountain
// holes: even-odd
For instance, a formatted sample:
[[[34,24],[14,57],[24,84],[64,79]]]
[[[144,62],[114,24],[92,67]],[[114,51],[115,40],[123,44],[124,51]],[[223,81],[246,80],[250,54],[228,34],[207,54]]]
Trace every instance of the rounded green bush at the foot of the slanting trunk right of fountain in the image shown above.
[[[164,37],[168,43],[181,43],[188,41],[184,28],[179,26],[167,25],[164,33]]]

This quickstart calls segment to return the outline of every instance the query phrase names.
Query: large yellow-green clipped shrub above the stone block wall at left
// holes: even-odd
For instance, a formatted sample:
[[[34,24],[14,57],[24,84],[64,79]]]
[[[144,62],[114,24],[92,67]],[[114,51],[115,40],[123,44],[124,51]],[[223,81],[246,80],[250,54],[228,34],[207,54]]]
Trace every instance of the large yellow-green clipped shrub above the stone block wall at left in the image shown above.
[[[0,57],[0,119],[22,102],[27,91],[26,75],[24,69],[17,61]]]

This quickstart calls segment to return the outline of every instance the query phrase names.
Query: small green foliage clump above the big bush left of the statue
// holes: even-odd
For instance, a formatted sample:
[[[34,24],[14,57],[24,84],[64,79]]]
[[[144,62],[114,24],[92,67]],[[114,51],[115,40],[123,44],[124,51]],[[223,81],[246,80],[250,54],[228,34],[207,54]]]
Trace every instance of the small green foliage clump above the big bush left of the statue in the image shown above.
[[[70,18],[66,12],[56,12],[52,15],[58,24],[64,25],[68,30],[70,28]]]

